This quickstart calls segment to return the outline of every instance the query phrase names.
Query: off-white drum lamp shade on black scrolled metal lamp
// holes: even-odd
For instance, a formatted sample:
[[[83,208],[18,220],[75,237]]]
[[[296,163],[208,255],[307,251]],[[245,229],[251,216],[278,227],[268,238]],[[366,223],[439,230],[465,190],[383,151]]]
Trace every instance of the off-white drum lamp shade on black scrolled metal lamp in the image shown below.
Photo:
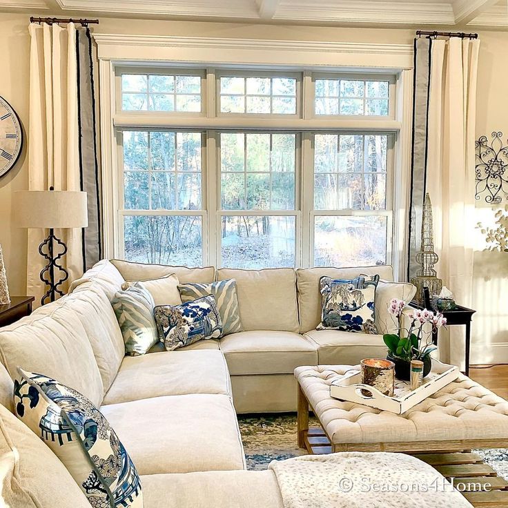
[[[22,190],[14,193],[19,228],[86,228],[86,193],[75,190]]]

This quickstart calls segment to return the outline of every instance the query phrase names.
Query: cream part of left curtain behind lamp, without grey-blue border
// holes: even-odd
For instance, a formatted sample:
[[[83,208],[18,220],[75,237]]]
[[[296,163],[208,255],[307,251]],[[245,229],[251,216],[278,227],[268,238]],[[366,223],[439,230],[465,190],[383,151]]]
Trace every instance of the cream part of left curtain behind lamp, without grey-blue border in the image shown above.
[[[80,190],[76,29],[30,24],[30,190]],[[41,300],[43,259],[38,246],[48,231],[28,230],[27,290]],[[81,230],[55,231],[67,246],[64,258],[70,280],[83,273]],[[65,289],[65,288],[64,288]]]

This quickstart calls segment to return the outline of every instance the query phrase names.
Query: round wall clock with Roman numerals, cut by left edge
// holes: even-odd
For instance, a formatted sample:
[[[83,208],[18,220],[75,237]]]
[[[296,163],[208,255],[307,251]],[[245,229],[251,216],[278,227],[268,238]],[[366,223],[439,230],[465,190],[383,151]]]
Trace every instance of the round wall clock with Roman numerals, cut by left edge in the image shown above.
[[[21,122],[12,106],[0,97],[0,177],[16,164],[23,146]]]

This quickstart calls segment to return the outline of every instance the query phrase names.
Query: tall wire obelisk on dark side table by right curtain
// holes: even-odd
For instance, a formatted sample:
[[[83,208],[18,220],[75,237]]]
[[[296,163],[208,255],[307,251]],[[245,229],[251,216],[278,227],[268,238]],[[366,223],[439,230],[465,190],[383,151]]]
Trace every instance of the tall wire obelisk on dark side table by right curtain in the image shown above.
[[[432,204],[429,193],[425,194],[422,210],[422,245],[420,252],[416,255],[416,262],[420,269],[416,277],[411,279],[411,284],[416,286],[415,300],[424,304],[423,288],[429,288],[431,297],[441,292],[442,280],[437,277],[434,265],[439,261],[438,255],[434,252],[433,226],[432,226]]]

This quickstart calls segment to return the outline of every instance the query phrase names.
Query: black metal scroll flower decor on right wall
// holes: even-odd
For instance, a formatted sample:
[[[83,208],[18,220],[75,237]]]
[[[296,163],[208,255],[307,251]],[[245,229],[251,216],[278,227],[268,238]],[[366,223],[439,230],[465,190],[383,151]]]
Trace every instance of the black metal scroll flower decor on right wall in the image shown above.
[[[503,143],[501,132],[494,132],[491,137],[490,144],[487,136],[475,141],[475,199],[500,204],[508,200],[508,146]]]

